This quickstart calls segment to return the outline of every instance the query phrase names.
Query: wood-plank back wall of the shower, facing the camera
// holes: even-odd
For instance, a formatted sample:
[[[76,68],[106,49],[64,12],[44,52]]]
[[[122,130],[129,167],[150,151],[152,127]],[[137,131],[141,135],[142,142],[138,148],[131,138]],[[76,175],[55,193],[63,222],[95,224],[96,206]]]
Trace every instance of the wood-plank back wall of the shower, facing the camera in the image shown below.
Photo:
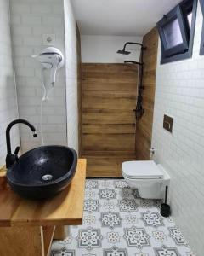
[[[121,177],[124,160],[135,159],[138,67],[82,64],[82,157],[87,177]]]

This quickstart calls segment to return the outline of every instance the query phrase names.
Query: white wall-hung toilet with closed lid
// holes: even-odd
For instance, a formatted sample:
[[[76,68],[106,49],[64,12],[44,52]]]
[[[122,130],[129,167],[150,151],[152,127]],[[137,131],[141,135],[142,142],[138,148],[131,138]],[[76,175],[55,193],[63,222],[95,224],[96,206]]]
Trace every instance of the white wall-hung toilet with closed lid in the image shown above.
[[[164,198],[170,183],[167,171],[153,160],[123,162],[122,176],[130,187],[139,190],[142,198]]]

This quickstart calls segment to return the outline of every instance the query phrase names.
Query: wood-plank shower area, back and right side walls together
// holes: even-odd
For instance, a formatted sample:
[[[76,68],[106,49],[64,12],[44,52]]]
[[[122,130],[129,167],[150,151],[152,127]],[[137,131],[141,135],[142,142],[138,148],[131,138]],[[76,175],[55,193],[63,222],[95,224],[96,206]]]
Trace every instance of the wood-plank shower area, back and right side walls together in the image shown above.
[[[117,49],[124,63],[82,63],[80,151],[87,177],[122,177],[123,161],[150,159],[157,43],[153,29],[142,44]],[[139,61],[128,46],[139,49]]]

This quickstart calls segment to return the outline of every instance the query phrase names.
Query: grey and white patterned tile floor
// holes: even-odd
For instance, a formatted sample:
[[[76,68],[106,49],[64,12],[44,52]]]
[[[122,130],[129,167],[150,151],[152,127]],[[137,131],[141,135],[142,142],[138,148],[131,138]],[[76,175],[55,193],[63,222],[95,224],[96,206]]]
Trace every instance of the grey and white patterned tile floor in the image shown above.
[[[82,226],[54,241],[52,256],[193,256],[161,201],[139,198],[122,179],[88,179]]]

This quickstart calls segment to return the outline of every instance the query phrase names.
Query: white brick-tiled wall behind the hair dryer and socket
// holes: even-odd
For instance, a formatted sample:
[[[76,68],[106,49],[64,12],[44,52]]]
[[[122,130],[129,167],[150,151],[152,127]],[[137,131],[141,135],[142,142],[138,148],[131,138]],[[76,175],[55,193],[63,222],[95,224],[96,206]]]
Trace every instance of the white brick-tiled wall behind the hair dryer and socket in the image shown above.
[[[16,71],[19,113],[40,130],[42,85],[40,65],[31,55],[47,46],[43,34],[55,34],[55,46],[65,53],[63,0],[10,0],[14,66]],[[45,144],[67,144],[65,67],[57,72],[57,82],[49,102],[43,103],[42,130]],[[23,151],[42,144],[41,137],[33,138],[25,125],[20,128]]]

